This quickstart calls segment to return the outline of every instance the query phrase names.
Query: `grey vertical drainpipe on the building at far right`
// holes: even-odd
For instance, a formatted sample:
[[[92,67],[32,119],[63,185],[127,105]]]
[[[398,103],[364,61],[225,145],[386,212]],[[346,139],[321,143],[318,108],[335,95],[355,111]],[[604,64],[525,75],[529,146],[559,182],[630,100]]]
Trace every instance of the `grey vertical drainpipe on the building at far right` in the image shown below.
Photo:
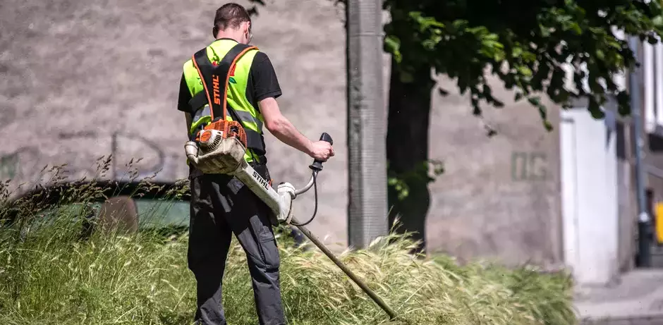
[[[633,56],[638,59],[638,37],[631,36],[628,40]],[[650,69],[651,67],[645,67]],[[635,139],[635,188],[638,195],[638,267],[650,267],[652,262],[650,243],[650,216],[645,203],[645,174],[643,173],[643,121],[640,104],[640,82],[635,67],[631,69],[628,89],[631,94],[631,114],[633,116],[633,139]]]

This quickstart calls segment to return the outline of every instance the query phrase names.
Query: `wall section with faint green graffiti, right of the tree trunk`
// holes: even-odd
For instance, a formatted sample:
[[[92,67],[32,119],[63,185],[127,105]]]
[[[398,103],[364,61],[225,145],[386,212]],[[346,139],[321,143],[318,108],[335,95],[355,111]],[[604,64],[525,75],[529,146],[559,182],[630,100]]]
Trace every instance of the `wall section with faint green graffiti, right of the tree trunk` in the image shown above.
[[[485,108],[485,122],[498,134],[487,137],[472,115],[468,96],[447,78],[433,93],[432,159],[446,173],[430,186],[427,240],[461,259],[477,256],[508,264],[561,262],[559,200],[559,109],[546,102],[555,129],[543,128],[537,109],[514,104],[513,93],[490,79],[503,109]]]

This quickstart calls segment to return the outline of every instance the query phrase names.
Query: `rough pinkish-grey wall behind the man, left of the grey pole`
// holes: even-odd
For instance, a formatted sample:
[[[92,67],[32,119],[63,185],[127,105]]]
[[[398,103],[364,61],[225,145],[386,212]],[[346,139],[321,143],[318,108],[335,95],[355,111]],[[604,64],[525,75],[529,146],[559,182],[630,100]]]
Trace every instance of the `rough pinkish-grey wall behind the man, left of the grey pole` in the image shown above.
[[[161,169],[157,180],[184,178],[185,121],[176,110],[182,66],[213,40],[214,11],[223,3],[2,1],[0,177],[30,182],[43,166],[64,163],[71,178],[94,177],[95,159],[114,153],[115,176],[142,157],[143,176]],[[334,137],[336,157],[319,176],[320,207],[310,228],[345,243],[342,17],[331,1],[275,1],[255,19],[254,42],[274,63],[284,114],[312,139]],[[266,133],[274,180],[303,185],[312,159]],[[300,218],[312,213],[312,201],[307,195],[296,202]]]

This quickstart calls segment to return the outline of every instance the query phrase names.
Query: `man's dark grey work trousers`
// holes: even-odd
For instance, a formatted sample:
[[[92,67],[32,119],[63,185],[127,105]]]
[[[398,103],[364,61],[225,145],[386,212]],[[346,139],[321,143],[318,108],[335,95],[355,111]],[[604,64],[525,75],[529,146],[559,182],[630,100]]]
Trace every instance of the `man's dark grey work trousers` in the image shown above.
[[[266,166],[254,168],[269,180]],[[226,325],[221,287],[233,233],[246,253],[260,324],[286,324],[269,207],[236,178],[190,175],[188,266],[196,280],[195,324]]]

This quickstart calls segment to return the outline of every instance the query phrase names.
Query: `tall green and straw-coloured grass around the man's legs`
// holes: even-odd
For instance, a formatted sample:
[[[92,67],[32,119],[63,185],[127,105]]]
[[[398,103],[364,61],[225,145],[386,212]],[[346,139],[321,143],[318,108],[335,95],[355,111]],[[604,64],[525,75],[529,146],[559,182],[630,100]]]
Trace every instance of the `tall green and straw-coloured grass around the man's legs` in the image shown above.
[[[171,194],[185,190],[183,184]],[[106,196],[93,183],[54,204],[43,197],[11,202],[4,191],[0,324],[191,323],[195,281],[186,266],[185,231],[82,231],[95,222],[86,217],[96,209],[94,202]],[[294,247],[286,231],[278,233],[289,324],[388,320],[322,252]],[[576,324],[564,274],[458,266],[449,257],[410,255],[413,247],[408,237],[391,234],[340,256],[396,309],[403,324]],[[223,303],[229,323],[257,324],[245,255],[234,238],[227,265]]]

